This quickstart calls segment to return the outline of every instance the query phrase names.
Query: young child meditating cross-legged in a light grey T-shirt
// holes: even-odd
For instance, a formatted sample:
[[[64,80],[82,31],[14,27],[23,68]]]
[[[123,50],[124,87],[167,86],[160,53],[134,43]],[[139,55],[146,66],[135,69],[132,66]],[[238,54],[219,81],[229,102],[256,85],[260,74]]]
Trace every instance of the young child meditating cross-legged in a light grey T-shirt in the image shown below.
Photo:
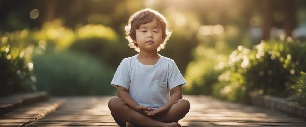
[[[118,97],[112,97],[108,107],[121,127],[178,127],[190,109],[189,101],[182,99],[186,81],[175,62],[157,53],[171,35],[166,24],[159,12],[142,9],[125,26],[129,45],[139,54],[123,59],[111,82]]]

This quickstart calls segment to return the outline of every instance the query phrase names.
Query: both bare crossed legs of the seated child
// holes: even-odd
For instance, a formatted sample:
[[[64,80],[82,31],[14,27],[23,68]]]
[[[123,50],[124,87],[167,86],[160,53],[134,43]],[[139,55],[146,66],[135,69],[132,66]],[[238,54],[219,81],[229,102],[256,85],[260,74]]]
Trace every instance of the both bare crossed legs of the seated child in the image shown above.
[[[128,104],[119,97],[112,97],[108,102],[108,107],[113,115],[122,122],[129,122],[137,126],[176,127],[180,126],[177,121],[188,113],[190,103],[185,99],[179,99],[165,114],[154,117],[143,115],[129,108]]]

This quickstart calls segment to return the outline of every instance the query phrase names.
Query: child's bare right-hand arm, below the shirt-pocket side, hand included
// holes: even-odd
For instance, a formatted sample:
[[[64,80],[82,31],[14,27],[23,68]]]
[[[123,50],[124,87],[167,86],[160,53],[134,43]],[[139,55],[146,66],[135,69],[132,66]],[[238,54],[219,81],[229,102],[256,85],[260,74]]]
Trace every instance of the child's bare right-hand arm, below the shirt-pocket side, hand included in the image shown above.
[[[157,115],[164,114],[166,111],[168,111],[171,108],[171,106],[177,100],[182,99],[183,95],[182,95],[182,87],[181,87],[181,85],[174,87],[170,91],[171,91],[172,96],[170,97],[169,101],[165,105],[160,107],[159,109],[155,109],[154,111],[149,113],[148,114],[149,116],[157,116]]]

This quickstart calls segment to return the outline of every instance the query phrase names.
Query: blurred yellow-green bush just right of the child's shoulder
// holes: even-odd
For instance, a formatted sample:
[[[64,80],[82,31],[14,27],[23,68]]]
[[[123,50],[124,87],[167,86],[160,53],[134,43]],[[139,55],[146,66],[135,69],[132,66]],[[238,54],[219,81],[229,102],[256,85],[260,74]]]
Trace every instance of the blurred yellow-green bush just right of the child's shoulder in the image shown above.
[[[189,62],[184,78],[188,85],[183,87],[184,94],[193,95],[211,95],[211,85],[218,82],[218,75],[222,69],[216,69],[214,66],[218,62],[224,61],[225,55],[220,55],[213,48],[204,48],[198,46],[192,51],[195,57],[194,61]],[[217,65],[218,66],[218,65]]]

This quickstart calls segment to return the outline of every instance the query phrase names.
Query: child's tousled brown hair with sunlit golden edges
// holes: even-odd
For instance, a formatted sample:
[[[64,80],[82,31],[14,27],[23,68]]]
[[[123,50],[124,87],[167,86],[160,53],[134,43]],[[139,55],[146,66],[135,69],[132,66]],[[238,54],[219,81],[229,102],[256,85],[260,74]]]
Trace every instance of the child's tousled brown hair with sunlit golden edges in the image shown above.
[[[159,12],[147,8],[135,12],[130,17],[129,23],[125,26],[125,38],[129,41],[130,48],[135,48],[135,50],[139,52],[138,44],[135,44],[133,41],[136,40],[136,30],[139,29],[141,24],[147,24],[153,21],[154,18],[156,19],[157,24],[162,28],[162,39],[165,40],[164,43],[158,48],[158,51],[165,48],[166,41],[169,40],[172,33],[171,31],[167,30],[167,20]]]

